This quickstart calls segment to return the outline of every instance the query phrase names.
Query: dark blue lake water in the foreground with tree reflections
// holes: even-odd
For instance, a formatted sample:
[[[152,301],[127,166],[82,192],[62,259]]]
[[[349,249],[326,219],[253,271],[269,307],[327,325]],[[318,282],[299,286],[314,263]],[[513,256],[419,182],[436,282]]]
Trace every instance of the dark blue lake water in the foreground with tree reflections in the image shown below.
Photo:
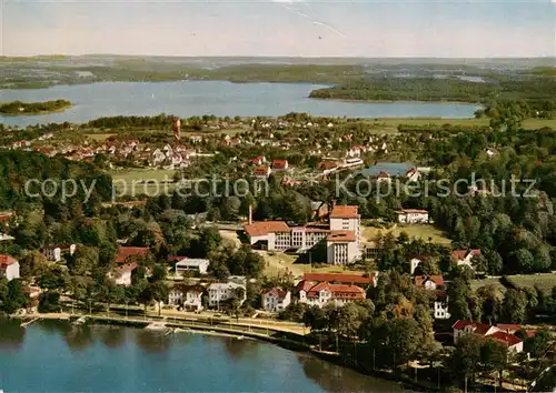
[[[11,392],[403,392],[309,354],[251,340],[0,320]]]

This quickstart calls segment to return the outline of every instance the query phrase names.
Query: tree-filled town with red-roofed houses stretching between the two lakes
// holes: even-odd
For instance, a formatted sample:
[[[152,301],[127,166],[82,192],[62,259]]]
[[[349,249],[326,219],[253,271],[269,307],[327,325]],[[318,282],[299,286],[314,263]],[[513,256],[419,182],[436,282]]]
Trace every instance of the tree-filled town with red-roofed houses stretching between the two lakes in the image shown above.
[[[7,129],[2,169],[28,169],[3,172],[16,191],[0,201],[0,306],[23,323],[142,315],[153,329],[214,330],[228,315],[228,330],[249,326],[241,336],[264,325],[367,373],[418,373],[425,389],[527,390],[555,359],[554,190],[499,208],[497,182],[437,189],[469,168],[450,152],[497,173],[510,143],[554,133],[496,132],[302,113]],[[39,185],[30,196],[23,180],[39,167],[37,184],[61,171],[96,187],[66,203]],[[248,191],[180,193],[215,174]],[[168,193],[151,192],[159,182]],[[435,192],[407,192],[425,183]]]

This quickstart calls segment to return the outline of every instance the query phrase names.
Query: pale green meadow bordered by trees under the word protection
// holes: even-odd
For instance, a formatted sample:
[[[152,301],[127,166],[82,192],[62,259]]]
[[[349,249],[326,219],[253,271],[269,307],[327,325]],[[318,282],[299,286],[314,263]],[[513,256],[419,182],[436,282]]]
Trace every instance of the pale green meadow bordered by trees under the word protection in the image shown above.
[[[119,195],[155,195],[173,190],[173,174],[176,171],[156,169],[156,170],[131,170],[131,171],[111,171],[112,182]],[[147,183],[153,181],[155,183]],[[169,183],[163,183],[169,181]]]

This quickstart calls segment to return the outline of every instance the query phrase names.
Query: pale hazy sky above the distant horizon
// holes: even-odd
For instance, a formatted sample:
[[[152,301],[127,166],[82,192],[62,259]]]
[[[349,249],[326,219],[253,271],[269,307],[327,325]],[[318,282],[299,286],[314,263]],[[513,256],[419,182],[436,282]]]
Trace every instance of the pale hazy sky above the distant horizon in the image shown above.
[[[0,1],[3,56],[556,56],[556,0]]]

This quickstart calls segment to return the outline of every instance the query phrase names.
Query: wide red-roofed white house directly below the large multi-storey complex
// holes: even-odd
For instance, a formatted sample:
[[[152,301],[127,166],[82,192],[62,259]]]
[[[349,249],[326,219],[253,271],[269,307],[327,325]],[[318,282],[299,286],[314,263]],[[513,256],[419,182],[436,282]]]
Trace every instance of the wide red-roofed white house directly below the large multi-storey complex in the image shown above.
[[[356,285],[330,284],[328,282],[315,285],[308,281],[301,281],[301,283],[298,284],[298,289],[300,288],[299,302],[308,305],[322,308],[332,302],[341,306],[367,298],[365,290]]]

